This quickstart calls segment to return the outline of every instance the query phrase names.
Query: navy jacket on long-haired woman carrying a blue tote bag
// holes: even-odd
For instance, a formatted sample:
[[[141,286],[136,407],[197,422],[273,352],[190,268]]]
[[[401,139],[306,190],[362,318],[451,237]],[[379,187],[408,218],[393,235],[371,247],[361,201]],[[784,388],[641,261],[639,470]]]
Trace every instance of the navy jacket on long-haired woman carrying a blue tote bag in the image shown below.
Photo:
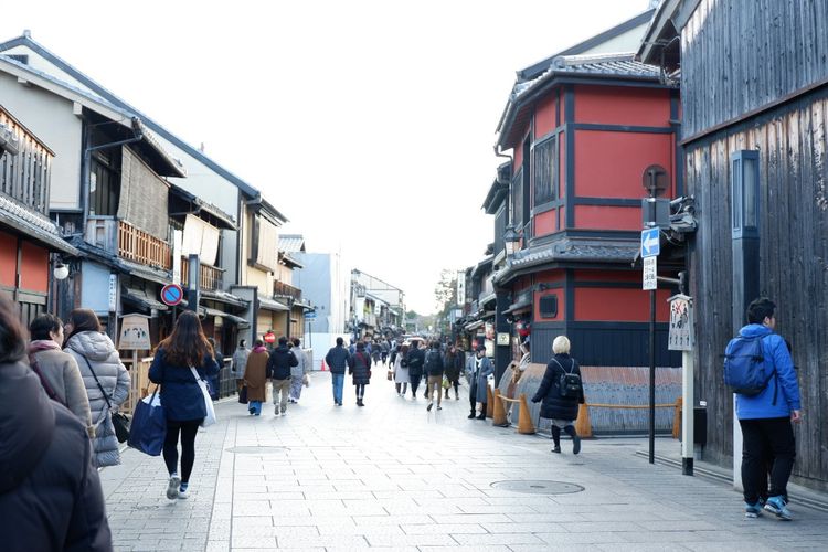
[[[219,373],[219,364],[210,355],[205,355],[200,367],[195,367],[199,375],[208,379]],[[161,403],[167,420],[184,422],[201,420],[206,416],[204,395],[189,367],[178,367],[167,362],[163,349],[156,352],[152,365],[149,367],[149,380],[161,384]]]

